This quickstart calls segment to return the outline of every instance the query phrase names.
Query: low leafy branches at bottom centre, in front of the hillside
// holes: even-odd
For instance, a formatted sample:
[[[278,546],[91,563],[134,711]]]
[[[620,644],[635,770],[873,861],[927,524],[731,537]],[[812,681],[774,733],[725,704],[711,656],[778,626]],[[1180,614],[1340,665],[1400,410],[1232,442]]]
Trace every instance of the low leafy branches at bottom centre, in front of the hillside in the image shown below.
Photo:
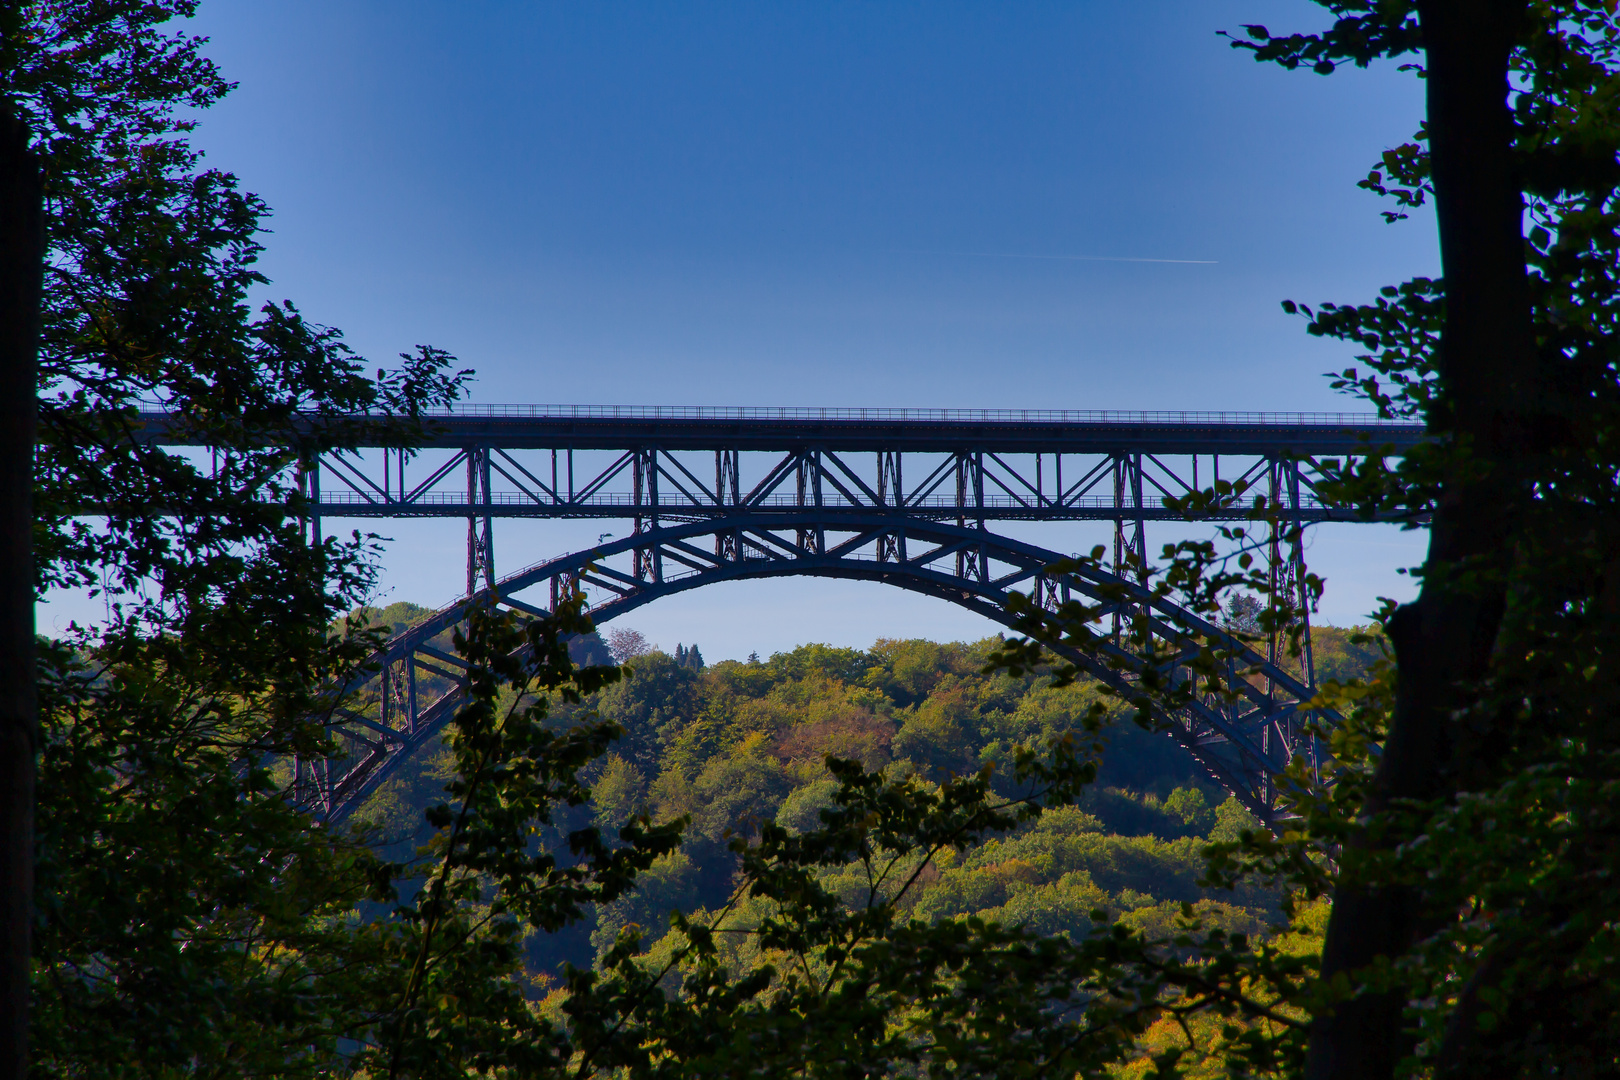
[[[1100,1075],[1139,1057],[1152,1023],[1189,1014],[1234,1018],[1233,1046],[1267,1067],[1298,1057],[1291,1002],[1312,960],[1205,931],[1191,908],[1170,938],[1106,912],[1076,939],[910,915],[935,860],[1071,805],[1098,750],[1074,737],[1021,750],[1014,797],[988,767],[935,785],[828,759],[839,790],[820,829],[734,840],[740,884],[719,913],[672,915],[651,954],[627,929],[596,973],[575,973],[562,1004],[575,1075]],[[855,894],[831,886],[850,868]],[[719,944],[739,933],[760,957],[742,970]],[[1257,1041],[1254,1023],[1285,1035]]]

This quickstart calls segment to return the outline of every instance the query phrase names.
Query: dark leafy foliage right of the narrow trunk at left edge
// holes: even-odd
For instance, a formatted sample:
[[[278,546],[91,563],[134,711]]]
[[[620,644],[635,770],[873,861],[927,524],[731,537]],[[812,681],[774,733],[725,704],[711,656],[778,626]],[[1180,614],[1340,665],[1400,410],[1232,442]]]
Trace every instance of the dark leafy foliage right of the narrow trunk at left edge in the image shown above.
[[[13,8],[0,92],[49,244],[36,567],[109,604],[42,656],[31,1069],[326,1074],[371,1009],[352,913],[392,871],[280,784],[337,750],[327,688],[376,641],[343,617],[369,539],[309,544],[296,466],[368,413],[408,440],[467,372],[431,348],[373,369],[292,304],[249,311],[266,209],[186,142],[228,89],[165,26],[191,3]],[[139,439],[143,406],[198,449]]]

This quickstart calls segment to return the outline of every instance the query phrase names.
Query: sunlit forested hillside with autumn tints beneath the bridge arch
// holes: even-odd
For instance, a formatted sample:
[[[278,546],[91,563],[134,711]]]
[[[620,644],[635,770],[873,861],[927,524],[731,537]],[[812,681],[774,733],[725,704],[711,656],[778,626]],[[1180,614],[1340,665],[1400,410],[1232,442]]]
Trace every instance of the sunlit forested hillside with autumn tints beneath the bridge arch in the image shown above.
[[[394,604],[373,614],[395,631],[426,614]],[[1359,675],[1379,656],[1354,631],[1314,633],[1322,678]],[[625,640],[637,641],[638,636]],[[554,848],[565,834],[598,824],[612,834],[625,821],[690,816],[680,852],[659,860],[637,891],[595,913],[593,921],[530,941],[531,972],[549,973],[562,960],[588,965],[619,931],[635,923],[650,946],[666,931],[669,912],[713,910],[731,899],[735,834],[763,821],[791,831],[818,824],[838,784],[828,755],[867,769],[943,779],[951,772],[1009,771],[1013,748],[1079,732],[1081,717],[1100,698],[1095,685],[1053,688],[1047,677],[1013,678],[983,672],[996,638],[938,644],[878,640],[868,649],[805,644],[768,661],[723,661],[697,667],[695,649],[653,649],[625,657],[633,675],[556,722],[595,711],[624,729],[614,750],[590,774],[593,803],[559,816]],[[575,641],[577,662],[611,662],[596,636]],[[700,656],[700,653],[697,654]],[[679,659],[677,659],[679,657]],[[1097,782],[1076,808],[1047,813],[1022,832],[923,870],[925,886],[907,899],[919,918],[977,915],[1019,923],[1038,933],[1084,933],[1090,913],[1111,916],[1150,934],[1166,934],[1183,904],[1194,904],[1207,925],[1260,933],[1275,915],[1277,897],[1260,891],[1212,891],[1199,886],[1200,850],[1254,827],[1243,806],[1212,784],[1168,735],[1113,724]],[[423,811],[449,779],[444,755],[424,755],[377,792],[361,818],[394,858],[411,855]],[[855,905],[857,878],[831,881]],[[740,910],[747,923],[747,905]],[[745,938],[729,947],[745,949]],[[745,962],[745,955],[739,955]]]

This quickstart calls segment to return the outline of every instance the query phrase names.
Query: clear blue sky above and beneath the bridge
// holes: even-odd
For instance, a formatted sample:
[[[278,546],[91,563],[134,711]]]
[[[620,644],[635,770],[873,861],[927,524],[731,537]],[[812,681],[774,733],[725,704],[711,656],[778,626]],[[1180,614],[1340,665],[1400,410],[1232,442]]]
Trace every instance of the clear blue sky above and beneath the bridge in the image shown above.
[[[1322,21],[1302,0],[206,0],[194,28],[241,86],[198,142],[275,210],[269,296],[374,358],[447,348],[481,402],[1343,410],[1320,372],[1349,351],[1278,301],[1437,272],[1432,223],[1387,227],[1354,186],[1421,86],[1215,34]],[[394,526],[384,599],[454,596],[457,528]],[[569,541],[512,538],[515,562]],[[1324,614],[1405,594],[1419,551],[1322,534]],[[710,659],[991,630],[815,581],[633,623]]]

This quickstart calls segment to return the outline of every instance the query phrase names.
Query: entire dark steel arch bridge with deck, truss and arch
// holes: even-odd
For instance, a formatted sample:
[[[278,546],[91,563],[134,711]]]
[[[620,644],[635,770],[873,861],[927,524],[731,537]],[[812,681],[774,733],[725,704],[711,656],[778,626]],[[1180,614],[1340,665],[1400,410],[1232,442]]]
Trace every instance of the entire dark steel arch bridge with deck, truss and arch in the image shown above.
[[[167,421],[147,416],[151,440],[183,444]],[[1241,704],[1194,701],[1168,733],[1270,823],[1273,777],[1314,753],[1299,714],[1315,685],[1309,646],[1286,662],[1275,640],[1256,651],[1155,597],[1132,570],[1147,563],[1147,525],[1184,521],[1165,499],[1220,479],[1241,494],[1202,521],[1246,520],[1264,495],[1283,523],[1264,544],[1272,585],[1302,601],[1299,531],[1362,520],[1320,495],[1315,461],[1400,455],[1422,439],[1419,426],[1349,413],[463,405],[426,423],[415,450],[327,452],[300,473],[316,538],[329,518],[467,521],[465,596],[376,657],[374,706],[339,717],[350,756],[296,769],[329,819],[358,808],[454,714],[465,664],[434,638],[468,606],[543,615],[583,591],[601,625],[719,581],[807,575],[897,586],[1003,625],[1014,589],[1048,609],[1098,606],[1115,630],[1145,615],[1170,678],[1179,667],[1163,656],[1184,662],[1199,638],[1221,641],[1234,674],[1256,674],[1231,680]],[[598,518],[624,533],[502,573],[501,518]],[[1050,573],[1064,552],[993,528],[1061,521],[1111,523],[1111,570]],[[1116,638],[1059,653],[1129,690],[1145,661]]]

